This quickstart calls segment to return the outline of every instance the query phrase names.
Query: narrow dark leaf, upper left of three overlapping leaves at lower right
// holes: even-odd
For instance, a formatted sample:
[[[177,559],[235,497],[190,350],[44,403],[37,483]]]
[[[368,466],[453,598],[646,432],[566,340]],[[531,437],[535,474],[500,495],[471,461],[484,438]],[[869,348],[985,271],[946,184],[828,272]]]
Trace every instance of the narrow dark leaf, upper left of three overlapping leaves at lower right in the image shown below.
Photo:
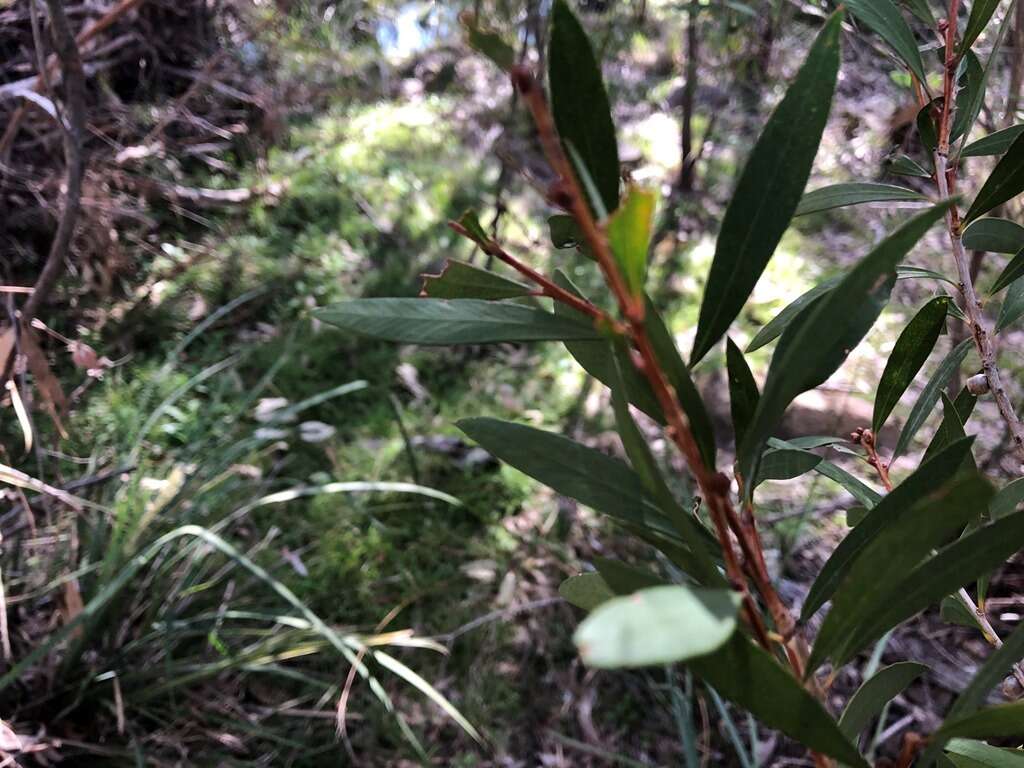
[[[912,505],[927,498],[927,494],[948,480],[970,453],[973,440],[973,437],[961,440],[940,452],[934,459],[922,464],[916,472],[891,493],[871,505],[867,517],[840,542],[818,572],[818,578],[811,585],[804,600],[804,607],[800,613],[802,622],[813,616],[836,594],[840,585],[846,583],[851,568],[873,542],[883,536],[891,539],[892,535],[887,534],[890,525],[899,520],[901,515],[909,514]],[[912,563],[909,563],[906,567],[909,568],[911,565]]]

